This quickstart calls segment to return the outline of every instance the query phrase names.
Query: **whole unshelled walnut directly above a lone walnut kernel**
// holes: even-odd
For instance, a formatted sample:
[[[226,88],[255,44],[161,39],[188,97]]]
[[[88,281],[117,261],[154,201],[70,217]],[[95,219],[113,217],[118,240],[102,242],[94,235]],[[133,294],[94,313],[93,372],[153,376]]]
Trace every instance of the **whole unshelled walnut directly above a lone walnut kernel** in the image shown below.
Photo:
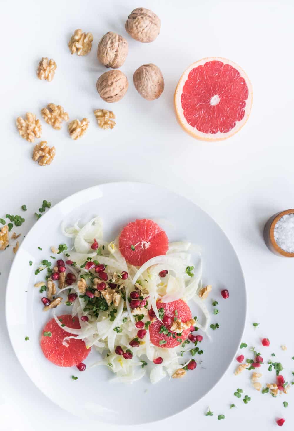
[[[97,81],[97,91],[105,102],[117,102],[129,88],[128,78],[120,70],[109,70]]]

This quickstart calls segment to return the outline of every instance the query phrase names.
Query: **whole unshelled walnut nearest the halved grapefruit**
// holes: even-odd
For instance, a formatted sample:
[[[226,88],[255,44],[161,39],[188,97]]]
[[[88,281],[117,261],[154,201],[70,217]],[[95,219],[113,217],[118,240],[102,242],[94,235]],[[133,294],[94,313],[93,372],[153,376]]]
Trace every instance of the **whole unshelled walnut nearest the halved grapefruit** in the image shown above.
[[[158,99],[164,90],[162,73],[155,64],[142,64],[135,70],[133,79],[136,90],[146,100]]]

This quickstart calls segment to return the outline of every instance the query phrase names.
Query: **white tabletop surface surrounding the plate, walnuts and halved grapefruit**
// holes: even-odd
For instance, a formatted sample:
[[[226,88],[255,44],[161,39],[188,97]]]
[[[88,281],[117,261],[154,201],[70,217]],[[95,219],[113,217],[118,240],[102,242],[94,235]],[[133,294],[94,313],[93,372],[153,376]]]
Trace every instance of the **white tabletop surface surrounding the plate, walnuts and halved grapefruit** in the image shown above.
[[[258,348],[260,337],[268,337],[271,347],[261,349],[263,358],[268,360],[275,352],[276,359],[287,369],[283,375],[291,379],[293,261],[270,253],[262,231],[271,215],[294,206],[293,4],[290,0],[146,0],[143,6],[162,20],[160,34],[150,44],[132,40],[124,29],[127,16],[138,6],[142,5],[130,0],[1,1],[0,216],[6,212],[19,214],[20,206],[26,204],[28,211],[21,213],[25,224],[17,229],[26,234],[43,199],[54,205],[76,191],[108,181],[152,182],[192,199],[224,228],[239,255],[248,289],[244,341],[248,347]],[[88,56],[70,55],[67,42],[76,28],[91,31],[94,36]],[[129,42],[129,55],[121,68],[129,79],[129,90],[120,102],[111,105],[100,99],[95,86],[105,71],[96,59],[97,44],[110,30]],[[245,69],[253,85],[254,100],[251,117],[238,134],[228,141],[207,144],[181,130],[173,112],[173,93],[191,62],[214,55],[230,58]],[[42,56],[57,63],[51,83],[36,77]],[[142,99],[132,83],[135,69],[148,62],[159,66],[165,78],[165,90],[153,102]],[[31,160],[33,144],[18,136],[15,119],[27,111],[41,118],[40,109],[50,102],[61,104],[70,119],[89,118],[90,126],[82,139],[71,141],[65,125],[55,131],[42,119],[42,139],[55,146],[56,157],[51,166],[40,167]],[[97,108],[115,113],[117,124],[112,131],[103,131],[95,124],[93,110]],[[113,210],[119,211],[115,202]],[[0,253],[0,430],[99,427],[49,402],[19,365],[9,343],[4,315],[12,247]],[[16,301],[17,290],[15,286]],[[256,331],[252,322],[260,323]],[[281,344],[288,347],[287,352],[282,352]],[[217,426],[220,430],[271,430],[276,429],[277,417],[285,417],[283,429],[293,429],[294,388],[292,393],[276,399],[262,395],[251,387],[249,373],[236,377],[234,367],[235,363],[195,406],[163,422],[136,429]],[[272,380],[265,370],[266,365],[263,384]],[[248,405],[233,396],[237,387],[251,395]],[[162,394],[162,403],[174,396],[183,394]],[[288,409],[282,405],[284,400],[288,400]],[[238,408],[230,410],[230,403]],[[208,406],[214,411],[213,417],[204,415]],[[130,415],[133,408],[130,406]],[[226,419],[218,421],[219,413]],[[121,427],[122,431],[126,429]]]

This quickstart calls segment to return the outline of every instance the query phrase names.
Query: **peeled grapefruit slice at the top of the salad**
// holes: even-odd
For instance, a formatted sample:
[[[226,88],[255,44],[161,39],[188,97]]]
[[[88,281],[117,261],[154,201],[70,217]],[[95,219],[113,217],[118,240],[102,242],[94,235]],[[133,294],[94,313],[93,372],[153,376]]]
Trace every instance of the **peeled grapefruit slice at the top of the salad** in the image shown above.
[[[136,220],[122,229],[119,250],[127,262],[141,266],[147,260],[167,252],[168,237],[152,220]]]

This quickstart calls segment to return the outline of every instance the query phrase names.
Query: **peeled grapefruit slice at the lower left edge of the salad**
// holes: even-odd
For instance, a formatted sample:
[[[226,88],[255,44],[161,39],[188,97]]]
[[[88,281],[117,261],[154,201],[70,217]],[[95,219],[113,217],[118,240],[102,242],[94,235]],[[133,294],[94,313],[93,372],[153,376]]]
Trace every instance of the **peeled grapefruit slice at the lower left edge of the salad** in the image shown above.
[[[80,329],[79,319],[72,318],[70,314],[63,314],[58,319],[69,328]],[[45,337],[44,332],[51,332],[51,337]],[[87,349],[83,340],[66,340],[65,337],[70,337],[72,334],[60,328],[55,319],[49,320],[42,332],[41,348],[44,356],[53,364],[60,367],[72,367],[89,355],[91,348]]]

